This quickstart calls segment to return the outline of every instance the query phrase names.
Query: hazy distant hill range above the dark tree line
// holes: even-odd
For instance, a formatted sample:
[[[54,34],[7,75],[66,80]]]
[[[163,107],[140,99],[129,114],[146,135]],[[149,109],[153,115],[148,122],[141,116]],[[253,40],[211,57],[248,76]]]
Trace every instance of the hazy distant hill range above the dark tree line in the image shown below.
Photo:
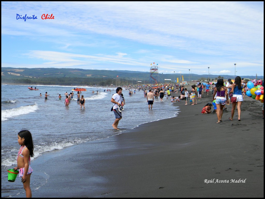
[[[183,75],[184,81],[192,80],[202,80],[208,79],[208,74],[197,75],[197,74],[153,74],[157,76],[157,79],[160,83],[164,83],[164,79],[171,79],[172,82],[174,79],[179,78],[182,80],[181,76]],[[127,71],[127,70],[85,70],[85,69],[66,69],[66,68],[11,68],[11,67],[1,67],[1,82],[6,83],[8,80],[17,81],[22,79],[32,80],[33,79],[60,79],[60,78],[71,78],[73,80],[89,80],[92,78],[94,81],[101,81],[103,83],[105,80],[117,78],[117,76],[123,82],[130,82],[135,84],[137,81],[148,84],[150,81],[149,72],[140,72],[140,71]],[[224,79],[234,79],[235,76],[232,75],[211,75],[209,74],[209,79],[216,79],[218,76],[223,77]],[[245,79],[264,79],[264,76],[241,76]],[[90,80],[92,80],[90,79]],[[98,80],[97,80],[98,79]],[[4,81],[4,82],[3,82]],[[90,81],[89,81],[90,82]]]

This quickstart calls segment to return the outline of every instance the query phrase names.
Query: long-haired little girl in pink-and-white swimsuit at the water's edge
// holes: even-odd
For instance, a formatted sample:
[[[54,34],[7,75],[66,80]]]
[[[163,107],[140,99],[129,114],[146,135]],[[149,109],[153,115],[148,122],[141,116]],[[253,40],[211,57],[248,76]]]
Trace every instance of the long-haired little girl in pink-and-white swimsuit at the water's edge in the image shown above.
[[[30,175],[33,169],[30,167],[30,157],[34,156],[32,135],[28,130],[21,130],[17,134],[17,138],[21,147],[17,156],[17,166],[14,170],[19,169],[19,177],[21,177],[21,182],[23,182],[26,197],[31,198]]]

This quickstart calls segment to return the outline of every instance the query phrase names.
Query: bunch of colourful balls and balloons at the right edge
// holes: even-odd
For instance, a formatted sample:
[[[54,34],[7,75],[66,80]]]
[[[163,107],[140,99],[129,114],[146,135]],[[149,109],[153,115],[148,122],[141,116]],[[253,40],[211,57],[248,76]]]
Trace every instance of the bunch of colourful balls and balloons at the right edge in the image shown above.
[[[252,97],[253,99],[264,102],[264,87],[262,86],[262,80],[253,79],[249,81],[247,87],[245,87],[246,95]]]

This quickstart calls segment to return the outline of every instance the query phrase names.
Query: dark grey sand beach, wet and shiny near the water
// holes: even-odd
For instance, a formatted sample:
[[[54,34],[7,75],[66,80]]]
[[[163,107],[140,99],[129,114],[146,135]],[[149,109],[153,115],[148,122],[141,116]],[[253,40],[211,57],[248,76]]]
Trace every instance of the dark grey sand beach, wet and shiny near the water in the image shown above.
[[[32,178],[49,178],[32,196],[263,197],[263,104],[245,98],[241,121],[237,110],[228,120],[229,105],[217,124],[215,113],[201,114],[211,98],[176,102],[176,117],[43,154],[32,162]]]

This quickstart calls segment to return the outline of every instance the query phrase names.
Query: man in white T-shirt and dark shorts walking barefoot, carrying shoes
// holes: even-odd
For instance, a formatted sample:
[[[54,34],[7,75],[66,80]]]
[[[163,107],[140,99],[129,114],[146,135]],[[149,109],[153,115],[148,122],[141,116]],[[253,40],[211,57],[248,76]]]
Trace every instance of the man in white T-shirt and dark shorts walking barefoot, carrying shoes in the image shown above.
[[[117,127],[118,127],[119,121],[122,118],[121,112],[118,110],[118,106],[121,106],[121,101],[122,101],[121,93],[122,93],[122,88],[121,87],[118,87],[116,89],[116,94],[114,94],[112,96],[112,98],[111,98],[111,102],[114,103],[114,105],[113,105],[113,112],[114,112],[114,115],[115,115],[115,121],[112,124],[112,127],[115,130],[119,130]]]

